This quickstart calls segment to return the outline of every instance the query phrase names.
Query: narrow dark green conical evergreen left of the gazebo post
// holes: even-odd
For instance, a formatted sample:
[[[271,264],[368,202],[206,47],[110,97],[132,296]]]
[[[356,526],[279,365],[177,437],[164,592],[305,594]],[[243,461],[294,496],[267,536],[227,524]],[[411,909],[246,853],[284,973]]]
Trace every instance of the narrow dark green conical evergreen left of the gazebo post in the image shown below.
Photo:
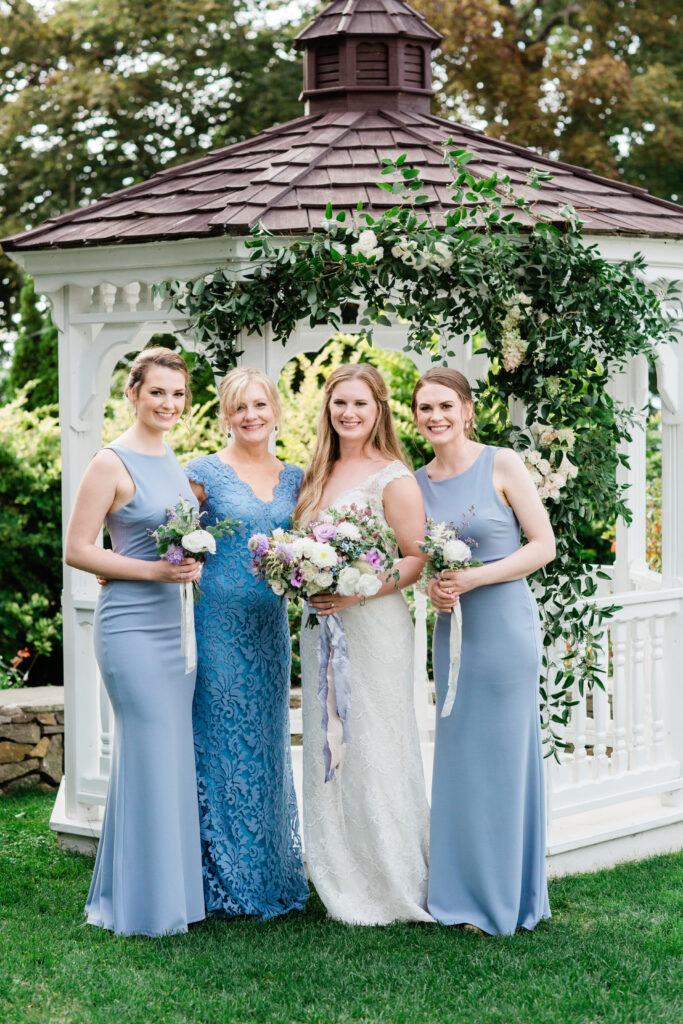
[[[18,334],[6,382],[9,397],[35,381],[26,393],[28,409],[55,404],[57,383],[57,330],[49,310],[38,308],[38,296],[31,278],[25,278],[19,296]]]

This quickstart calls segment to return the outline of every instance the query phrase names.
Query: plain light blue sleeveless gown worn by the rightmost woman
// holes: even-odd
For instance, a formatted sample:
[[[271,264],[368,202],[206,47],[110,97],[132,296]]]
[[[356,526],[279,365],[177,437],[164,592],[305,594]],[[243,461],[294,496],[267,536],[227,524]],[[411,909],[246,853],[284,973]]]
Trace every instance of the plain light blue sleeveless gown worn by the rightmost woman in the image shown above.
[[[476,558],[519,548],[517,518],[493,483],[495,447],[464,473],[416,473],[427,516],[459,525]],[[473,511],[468,510],[473,506]],[[450,613],[437,614],[433,663],[436,735],[432,781],[429,911],[445,925],[489,934],[533,928],[550,916],[546,885],[543,752],[539,721],[541,635],[525,580],[478,587],[461,597],[463,647],[458,692],[440,718],[449,679]]]

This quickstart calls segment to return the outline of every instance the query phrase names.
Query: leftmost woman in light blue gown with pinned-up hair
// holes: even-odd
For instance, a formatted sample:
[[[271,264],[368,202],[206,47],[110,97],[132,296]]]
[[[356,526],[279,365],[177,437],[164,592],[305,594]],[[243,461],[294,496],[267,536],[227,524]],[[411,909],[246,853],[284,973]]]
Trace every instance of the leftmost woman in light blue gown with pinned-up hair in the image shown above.
[[[135,424],[90,463],[69,525],[70,565],[109,580],[95,611],[95,653],[114,709],[114,755],[86,904],[91,925],[124,935],[186,932],[204,915],[193,752],[195,672],[180,650],[178,584],[194,559],[157,557],[147,530],[179,496],[194,501],[164,442],[189,400],[187,368],[166,348],[134,360],[126,394]],[[113,550],[97,547],[102,521]]]

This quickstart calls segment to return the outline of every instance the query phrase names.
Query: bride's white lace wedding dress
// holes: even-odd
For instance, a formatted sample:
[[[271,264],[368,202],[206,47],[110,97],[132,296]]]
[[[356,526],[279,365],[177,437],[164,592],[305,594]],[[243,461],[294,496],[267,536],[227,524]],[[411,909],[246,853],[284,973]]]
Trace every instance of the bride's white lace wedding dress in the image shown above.
[[[392,462],[344,492],[335,508],[370,505],[410,475]],[[351,664],[351,738],[325,781],[317,699],[317,628],[301,631],[303,825],[310,879],[332,918],[355,925],[431,921],[429,809],[413,698],[413,623],[401,594],[341,612]]]

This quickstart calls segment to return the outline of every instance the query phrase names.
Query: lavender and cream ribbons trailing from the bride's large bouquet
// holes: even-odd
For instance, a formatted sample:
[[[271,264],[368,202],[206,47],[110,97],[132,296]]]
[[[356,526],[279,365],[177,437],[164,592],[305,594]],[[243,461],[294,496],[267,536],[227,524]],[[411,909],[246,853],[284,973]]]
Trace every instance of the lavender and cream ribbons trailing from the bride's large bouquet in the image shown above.
[[[318,615],[317,699],[323,709],[323,758],[325,781],[335,777],[344,761],[345,744],[351,739],[351,665],[344,624],[338,614]]]

